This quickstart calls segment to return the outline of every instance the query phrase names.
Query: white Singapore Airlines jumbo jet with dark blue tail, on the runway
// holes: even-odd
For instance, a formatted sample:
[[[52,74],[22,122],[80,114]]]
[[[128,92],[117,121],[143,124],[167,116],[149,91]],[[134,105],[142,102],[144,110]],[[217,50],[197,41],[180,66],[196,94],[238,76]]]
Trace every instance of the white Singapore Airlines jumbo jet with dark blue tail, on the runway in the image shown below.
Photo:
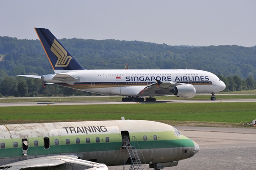
[[[123,102],[155,101],[154,96],[174,94],[193,98],[196,93],[215,93],[225,84],[211,72],[201,70],[85,70],[62,46],[55,36],[44,28],[35,28],[54,74],[43,76],[18,75],[42,79],[44,85],[65,87],[105,95],[121,95]]]

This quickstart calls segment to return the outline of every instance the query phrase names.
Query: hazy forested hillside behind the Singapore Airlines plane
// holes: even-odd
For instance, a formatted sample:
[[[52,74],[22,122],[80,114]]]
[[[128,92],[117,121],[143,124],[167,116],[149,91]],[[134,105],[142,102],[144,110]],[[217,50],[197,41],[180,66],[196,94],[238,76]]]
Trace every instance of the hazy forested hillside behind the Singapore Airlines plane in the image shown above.
[[[60,42],[85,69],[124,69],[125,63],[128,63],[128,69],[200,69],[221,76],[226,84],[231,84],[230,77],[233,81],[243,81],[243,88],[227,86],[226,90],[231,91],[251,89],[247,79],[256,80],[256,46],[169,46],[79,38],[62,38]],[[39,40],[0,37],[0,88],[6,77],[49,73],[53,70]],[[18,78],[14,79],[18,83]],[[43,93],[43,90],[37,93]]]

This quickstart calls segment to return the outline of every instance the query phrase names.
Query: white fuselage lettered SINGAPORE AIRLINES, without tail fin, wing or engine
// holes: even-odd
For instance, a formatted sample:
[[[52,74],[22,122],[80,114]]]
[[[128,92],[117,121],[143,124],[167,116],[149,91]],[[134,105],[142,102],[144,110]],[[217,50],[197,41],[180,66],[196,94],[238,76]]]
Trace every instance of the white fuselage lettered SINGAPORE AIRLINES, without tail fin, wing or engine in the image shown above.
[[[216,93],[225,89],[225,84],[216,75],[202,70],[74,70],[68,74],[79,80],[74,85],[52,80],[55,74],[44,75],[44,81],[91,93],[122,96],[143,96],[141,89],[155,83],[177,82],[191,84],[196,93]],[[152,96],[169,95],[153,93]]]

